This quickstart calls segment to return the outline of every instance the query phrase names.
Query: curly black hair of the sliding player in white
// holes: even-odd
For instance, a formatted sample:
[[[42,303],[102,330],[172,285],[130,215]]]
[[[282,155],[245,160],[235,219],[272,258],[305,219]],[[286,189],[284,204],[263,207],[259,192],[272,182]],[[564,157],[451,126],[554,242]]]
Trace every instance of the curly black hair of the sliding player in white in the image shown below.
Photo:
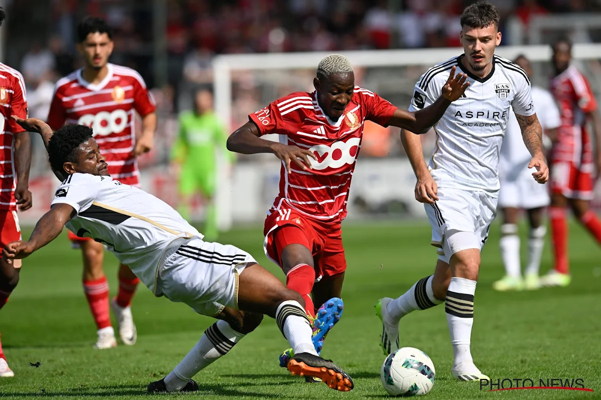
[[[92,128],[85,125],[65,125],[48,142],[48,160],[52,170],[64,172],[64,163],[76,163],[76,149],[92,137]]]

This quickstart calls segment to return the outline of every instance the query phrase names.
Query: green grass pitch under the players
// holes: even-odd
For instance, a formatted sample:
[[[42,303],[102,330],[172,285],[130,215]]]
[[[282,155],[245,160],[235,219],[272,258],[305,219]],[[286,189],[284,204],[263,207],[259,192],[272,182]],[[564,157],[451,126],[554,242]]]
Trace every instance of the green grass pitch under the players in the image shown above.
[[[344,315],[325,342],[323,356],[343,366],[355,380],[350,393],[323,384],[305,384],[279,368],[287,347],[275,321],[265,318],[227,356],[195,379],[200,392],[162,398],[382,398],[380,324],[373,305],[383,296],[398,296],[429,275],[435,250],[424,222],[346,224],[349,264],[343,291]],[[28,237],[26,232],[25,237]],[[595,390],[481,391],[478,383],[453,380],[444,306],[413,312],[401,322],[401,346],[426,351],[436,367],[431,399],[459,398],[601,398],[601,251],[577,225],[570,225],[573,282],[567,288],[496,293],[491,284],[502,275],[498,225],[484,248],[475,296],[472,355],[493,379],[566,378],[584,380]],[[525,236],[525,230],[522,230]],[[236,229],[221,242],[251,252],[279,278],[261,248],[261,228]],[[543,272],[551,264],[549,240]],[[523,242],[522,248],[525,248]],[[524,253],[524,251],[522,251]],[[117,291],[117,263],[105,259],[111,294]],[[0,378],[0,398],[132,399],[168,373],[213,323],[182,303],[156,298],[145,287],[133,303],[138,343],[93,350],[95,327],[81,288],[81,254],[70,249],[66,234],[23,262],[19,287],[0,311],[2,343],[16,376]],[[42,362],[32,368],[28,362]]]

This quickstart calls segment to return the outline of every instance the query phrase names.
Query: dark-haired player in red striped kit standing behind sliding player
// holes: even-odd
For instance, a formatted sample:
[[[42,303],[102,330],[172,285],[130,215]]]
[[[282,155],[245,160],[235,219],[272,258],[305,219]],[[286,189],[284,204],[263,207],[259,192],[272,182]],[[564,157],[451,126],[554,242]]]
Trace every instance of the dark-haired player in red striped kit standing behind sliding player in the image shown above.
[[[56,82],[47,124],[58,130],[65,123],[93,128],[94,139],[106,157],[109,173],[123,184],[139,186],[136,157],[150,151],[156,128],[154,102],[142,77],[131,68],[108,62],[113,50],[112,29],[102,18],[88,17],[78,26],[78,50],[85,67]],[[136,141],[134,114],[142,117],[142,135]],[[84,258],[84,291],[96,321],[95,348],[117,345],[109,312],[109,286],[102,268],[101,243],[69,231],[74,247]],[[127,345],[136,342],[130,303],[138,278],[123,264],[119,291],[110,304],[119,324],[119,336]]]

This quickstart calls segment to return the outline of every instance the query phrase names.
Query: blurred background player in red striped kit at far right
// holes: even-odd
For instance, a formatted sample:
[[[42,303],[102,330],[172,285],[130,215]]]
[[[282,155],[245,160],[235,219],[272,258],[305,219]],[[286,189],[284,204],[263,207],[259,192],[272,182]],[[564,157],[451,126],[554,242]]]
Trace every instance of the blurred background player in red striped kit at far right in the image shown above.
[[[587,78],[570,65],[572,43],[558,40],[553,46],[555,77],[551,93],[561,114],[561,126],[551,151],[551,231],[555,266],[542,276],[543,286],[570,284],[570,263],[567,256],[566,207],[570,206],[578,221],[601,243],[601,221],[590,209],[593,199],[593,172],[601,173],[601,121],[597,101]],[[593,143],[587,130],[591,122],[595,135]]]

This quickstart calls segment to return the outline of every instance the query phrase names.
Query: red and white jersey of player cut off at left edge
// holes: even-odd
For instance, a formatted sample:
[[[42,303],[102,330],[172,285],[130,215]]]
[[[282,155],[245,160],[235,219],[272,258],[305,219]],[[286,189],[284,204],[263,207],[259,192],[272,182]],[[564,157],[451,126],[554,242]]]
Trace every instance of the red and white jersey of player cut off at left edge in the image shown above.
[[[17,170],[14,166],[14,134],[24,132],[11,115],[27,118],[25,81],[19,71],[0,63],[0,210],[16,210],[14,190],[17,185]]]

